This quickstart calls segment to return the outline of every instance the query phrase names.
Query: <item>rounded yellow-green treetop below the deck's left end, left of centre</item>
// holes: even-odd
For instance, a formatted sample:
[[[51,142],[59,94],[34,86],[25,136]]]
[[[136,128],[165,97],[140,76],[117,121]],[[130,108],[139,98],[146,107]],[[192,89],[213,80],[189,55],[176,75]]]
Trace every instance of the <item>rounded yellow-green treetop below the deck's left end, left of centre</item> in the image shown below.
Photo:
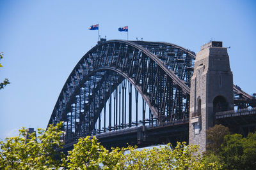
[[[97,142],[95,136],[90,139],[80,138],[74,149],[68,152],[67,162],[69,169],[115,169],[124,150],[112,148],[109,152]],[[100,167],[101,166],[101,167]]]

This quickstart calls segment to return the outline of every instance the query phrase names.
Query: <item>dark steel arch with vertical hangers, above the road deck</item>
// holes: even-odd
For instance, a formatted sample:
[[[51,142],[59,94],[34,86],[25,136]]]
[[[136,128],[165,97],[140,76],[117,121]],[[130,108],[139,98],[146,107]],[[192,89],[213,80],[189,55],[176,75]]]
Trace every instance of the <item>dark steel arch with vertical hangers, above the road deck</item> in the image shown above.
[[[194,60],[194,52],[171,43],[99,42],[68,76],[49,124],[64,122],[65,143],[141,125],[188,124]],[[135,113],[132,86],[136,89]],[[142,97],[140,113],[138,94]],[[250,105],[244,101],[251,96],[235,86],[234,94],[239,98],[237,106]]]

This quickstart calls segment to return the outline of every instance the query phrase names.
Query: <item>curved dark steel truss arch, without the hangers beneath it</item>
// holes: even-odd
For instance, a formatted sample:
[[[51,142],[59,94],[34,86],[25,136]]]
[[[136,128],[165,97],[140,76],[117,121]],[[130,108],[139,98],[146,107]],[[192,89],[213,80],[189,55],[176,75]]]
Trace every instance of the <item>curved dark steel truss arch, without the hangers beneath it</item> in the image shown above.
[[[49,124],[64,121],[66,141],[92,134],[100,111],[124,79],[140,92],[160,123],[186,118],[194,59],[194,53],[170,43],[100,43],[68,76]]]

